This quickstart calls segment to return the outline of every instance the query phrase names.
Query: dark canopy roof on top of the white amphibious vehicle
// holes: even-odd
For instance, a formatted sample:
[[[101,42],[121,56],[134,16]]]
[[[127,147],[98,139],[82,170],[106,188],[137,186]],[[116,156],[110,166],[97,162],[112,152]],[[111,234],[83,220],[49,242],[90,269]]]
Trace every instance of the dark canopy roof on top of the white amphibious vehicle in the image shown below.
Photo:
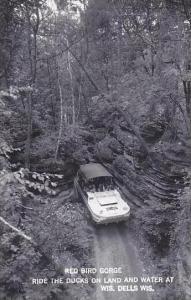
[[[87,179],[113,177],[101,164],[89,163],[80,166],[80,172]]]

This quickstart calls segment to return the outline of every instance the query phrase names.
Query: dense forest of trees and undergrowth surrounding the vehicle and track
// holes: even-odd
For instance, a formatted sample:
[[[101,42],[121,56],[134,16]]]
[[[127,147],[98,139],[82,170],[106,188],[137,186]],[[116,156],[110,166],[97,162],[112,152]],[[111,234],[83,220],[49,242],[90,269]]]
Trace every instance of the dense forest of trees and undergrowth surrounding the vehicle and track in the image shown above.
[[[175,277],[152,299],[191,299],[189,0],[0,0],[0,126],[0,299],[100,300],[30,280],[96,265],[88,162],[123,189],[147,273]]]

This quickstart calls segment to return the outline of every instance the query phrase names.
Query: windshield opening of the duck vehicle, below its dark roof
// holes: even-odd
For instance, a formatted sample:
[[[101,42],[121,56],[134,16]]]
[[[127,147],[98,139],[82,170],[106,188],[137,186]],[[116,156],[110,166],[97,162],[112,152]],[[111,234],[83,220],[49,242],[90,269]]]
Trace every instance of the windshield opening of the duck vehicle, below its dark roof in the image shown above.
[[[115,189],[115,184],[112,177],[98,177],[88,181],[88,192],[104,192],[112,191]]]

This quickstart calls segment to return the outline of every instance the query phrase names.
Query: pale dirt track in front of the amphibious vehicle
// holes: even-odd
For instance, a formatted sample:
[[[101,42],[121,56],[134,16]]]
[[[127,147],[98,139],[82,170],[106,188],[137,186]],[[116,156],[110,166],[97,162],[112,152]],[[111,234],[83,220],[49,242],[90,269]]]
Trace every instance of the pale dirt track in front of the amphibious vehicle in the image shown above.
[[[97,227],[95,230],[95,256],[97,269],[108,267],[121,267],[122,274],[100,274],[101,280],[108,278],[140,277],[144,275],[142,262],[132,238],[125,224],[110,224]],[[105,284],[107,285],[107,284]],[[97,284],[96,300],[150,300],[146,292],[118,291],[119,285],[133,286],[136,283],[114,283],[115,291],[102,291],[101,284]],[[118,286],[117,286],[118,285]]]

